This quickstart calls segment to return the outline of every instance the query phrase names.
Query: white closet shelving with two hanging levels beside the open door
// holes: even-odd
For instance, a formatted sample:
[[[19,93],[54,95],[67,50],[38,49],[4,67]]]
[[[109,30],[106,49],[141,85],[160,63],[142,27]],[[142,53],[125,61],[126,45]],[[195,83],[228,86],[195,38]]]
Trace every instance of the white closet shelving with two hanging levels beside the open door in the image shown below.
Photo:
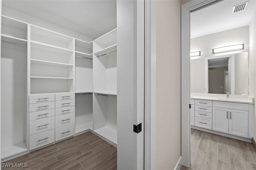
[[[117,146],[116,29],[93,41],[94,133]]]

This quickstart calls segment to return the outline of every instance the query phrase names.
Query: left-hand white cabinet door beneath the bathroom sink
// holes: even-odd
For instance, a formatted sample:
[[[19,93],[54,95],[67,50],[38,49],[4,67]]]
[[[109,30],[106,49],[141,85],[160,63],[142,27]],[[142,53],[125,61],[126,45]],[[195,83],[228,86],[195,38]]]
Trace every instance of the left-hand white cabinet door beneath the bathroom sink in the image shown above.
[[[212,130],[228,133],[229,109],[212,107]]]

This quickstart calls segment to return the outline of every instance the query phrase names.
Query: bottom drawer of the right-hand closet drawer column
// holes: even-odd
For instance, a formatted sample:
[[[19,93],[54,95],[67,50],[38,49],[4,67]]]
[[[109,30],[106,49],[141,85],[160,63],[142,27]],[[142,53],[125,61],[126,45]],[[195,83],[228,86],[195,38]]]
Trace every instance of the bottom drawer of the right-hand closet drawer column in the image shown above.
[[[55,141],[60,141],[75,135],[75,124],[58,127],[55,129]]]

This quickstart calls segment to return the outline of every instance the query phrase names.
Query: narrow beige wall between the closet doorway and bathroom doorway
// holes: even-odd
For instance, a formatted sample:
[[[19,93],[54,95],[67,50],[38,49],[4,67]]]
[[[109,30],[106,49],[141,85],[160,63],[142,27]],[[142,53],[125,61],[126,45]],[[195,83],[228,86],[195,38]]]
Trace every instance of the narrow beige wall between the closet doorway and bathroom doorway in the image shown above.
[[[174,169],[181,155],[179,0],[156,1],[156,169]]]

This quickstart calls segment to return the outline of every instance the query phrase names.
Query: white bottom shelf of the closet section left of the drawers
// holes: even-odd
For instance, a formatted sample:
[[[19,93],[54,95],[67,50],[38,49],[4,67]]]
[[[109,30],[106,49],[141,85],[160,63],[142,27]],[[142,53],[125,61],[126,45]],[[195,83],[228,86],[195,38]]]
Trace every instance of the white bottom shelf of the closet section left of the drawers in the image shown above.
[[[27,152],[28,149],[26,147],[26,143],[19,143],[17,145],[12,145],[10,147],[1,149],[1,159],[8,158],[14,156],[16,154],[21,154],[23,152]]]

